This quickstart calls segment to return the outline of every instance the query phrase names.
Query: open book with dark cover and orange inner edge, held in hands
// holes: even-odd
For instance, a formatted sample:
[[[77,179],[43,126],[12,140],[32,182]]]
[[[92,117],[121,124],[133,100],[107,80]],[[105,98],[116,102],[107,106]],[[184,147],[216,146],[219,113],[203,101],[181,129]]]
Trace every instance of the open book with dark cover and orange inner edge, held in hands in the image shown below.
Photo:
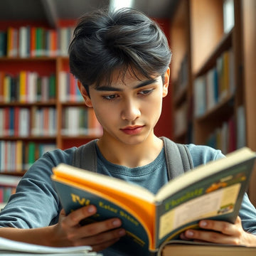
[[[242,148],[169,181],[156,195],[132,183],[65,164],[53,168],[52,179],[65,213],[95,205],[97,213],[82,223],[120,218],[127,235],[114,246],[131,255],[134,250],[137,255],[151,255],[166,240],[198,228],[201,219],[234,223],[255,156]]]

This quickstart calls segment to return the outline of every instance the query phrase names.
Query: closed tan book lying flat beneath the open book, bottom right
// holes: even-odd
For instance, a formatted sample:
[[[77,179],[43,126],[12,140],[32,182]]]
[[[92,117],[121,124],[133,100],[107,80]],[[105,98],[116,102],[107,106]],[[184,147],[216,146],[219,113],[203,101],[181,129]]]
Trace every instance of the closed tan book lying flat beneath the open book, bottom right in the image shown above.
[[[163,246],[161,256],[255,256],[256,247],[216,245],[206,242],[169,242]]]

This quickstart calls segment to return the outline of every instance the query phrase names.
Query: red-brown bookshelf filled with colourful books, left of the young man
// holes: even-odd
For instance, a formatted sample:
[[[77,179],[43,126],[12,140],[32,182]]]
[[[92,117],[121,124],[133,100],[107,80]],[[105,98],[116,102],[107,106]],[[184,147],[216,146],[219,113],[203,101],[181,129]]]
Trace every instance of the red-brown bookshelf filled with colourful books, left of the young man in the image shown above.
[[[22,176],[46,151],[100,137],[102,129],[69,73],[73,25],[53,29],[42,23],[11,21],[1,22],[0,31],[3,179],[9,174]]]

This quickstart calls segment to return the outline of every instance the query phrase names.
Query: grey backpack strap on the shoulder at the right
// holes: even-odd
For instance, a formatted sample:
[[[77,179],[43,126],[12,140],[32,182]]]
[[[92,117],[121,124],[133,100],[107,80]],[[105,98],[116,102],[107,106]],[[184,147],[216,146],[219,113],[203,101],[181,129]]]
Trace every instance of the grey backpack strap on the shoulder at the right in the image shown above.
[[[186,145],[177,144],[166,137],[161,137],[161,139],[164,141],[169,180],[193,169],[191,154]]]

